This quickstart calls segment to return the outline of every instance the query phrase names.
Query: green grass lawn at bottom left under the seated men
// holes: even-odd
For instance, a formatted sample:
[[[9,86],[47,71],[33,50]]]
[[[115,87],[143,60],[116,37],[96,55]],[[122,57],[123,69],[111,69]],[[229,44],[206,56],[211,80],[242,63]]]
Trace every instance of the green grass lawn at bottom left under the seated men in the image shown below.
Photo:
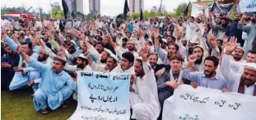
[[[43,115],[35,111],[33,91],[2,90],[1,91],[1,119],[2,120],[65,120],[71,117],[77,108],[77,102],[67,99],[67,108],[58,108]]]

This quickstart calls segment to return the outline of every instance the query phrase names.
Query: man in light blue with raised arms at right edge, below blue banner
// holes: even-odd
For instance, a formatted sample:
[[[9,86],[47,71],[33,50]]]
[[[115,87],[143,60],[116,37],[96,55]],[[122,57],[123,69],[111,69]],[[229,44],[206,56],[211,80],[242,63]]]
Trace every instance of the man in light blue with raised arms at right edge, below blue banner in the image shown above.
[[[248,54],[249,50],[253,48],[254,39],[256,37],[256,12],[254,12],[254,15],[250,18],[252,21],[251,25],[244,25],[244,19],[246,18],[246,12],[244,12],[239,24],[238,29],[243,30],[247,33],[248,39],[246,44],[244,45],[244,48],[246,49],[246,52],[244,53],[244,58]]]

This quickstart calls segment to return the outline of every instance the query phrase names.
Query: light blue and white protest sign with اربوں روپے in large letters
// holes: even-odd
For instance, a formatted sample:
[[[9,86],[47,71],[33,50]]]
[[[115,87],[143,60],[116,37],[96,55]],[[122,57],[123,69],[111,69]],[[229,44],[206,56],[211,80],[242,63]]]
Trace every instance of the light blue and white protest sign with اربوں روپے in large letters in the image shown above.
[[[129,74],[82,71],[77,79],[77,109],[70,120],[130,118]]]

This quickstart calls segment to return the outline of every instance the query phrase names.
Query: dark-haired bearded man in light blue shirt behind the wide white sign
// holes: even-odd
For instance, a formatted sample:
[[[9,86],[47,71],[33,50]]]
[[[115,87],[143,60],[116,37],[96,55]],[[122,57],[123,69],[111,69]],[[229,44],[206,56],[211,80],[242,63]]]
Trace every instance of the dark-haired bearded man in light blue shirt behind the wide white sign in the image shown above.
[[[198,57],[194,54],[189,56],[189,62],[197,61]],[[185,69],[182,73],[184,79],[191,81],[193,88],[197,88],[198,85],[216,90],[229,89],[227,81],[223,76],[216,73],[216,69],[219,65],[219,60],[215,56],[208,56],[204,59],[204,71],[203,72],[189,72]]]

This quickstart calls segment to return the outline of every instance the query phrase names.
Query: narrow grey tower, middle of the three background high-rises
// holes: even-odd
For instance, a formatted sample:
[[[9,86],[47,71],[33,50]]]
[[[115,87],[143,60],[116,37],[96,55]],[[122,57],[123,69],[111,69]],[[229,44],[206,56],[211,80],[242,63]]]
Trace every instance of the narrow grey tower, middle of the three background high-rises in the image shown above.
[[[89,0],[90,12],[95,16],[100,15],[100,0]]]

